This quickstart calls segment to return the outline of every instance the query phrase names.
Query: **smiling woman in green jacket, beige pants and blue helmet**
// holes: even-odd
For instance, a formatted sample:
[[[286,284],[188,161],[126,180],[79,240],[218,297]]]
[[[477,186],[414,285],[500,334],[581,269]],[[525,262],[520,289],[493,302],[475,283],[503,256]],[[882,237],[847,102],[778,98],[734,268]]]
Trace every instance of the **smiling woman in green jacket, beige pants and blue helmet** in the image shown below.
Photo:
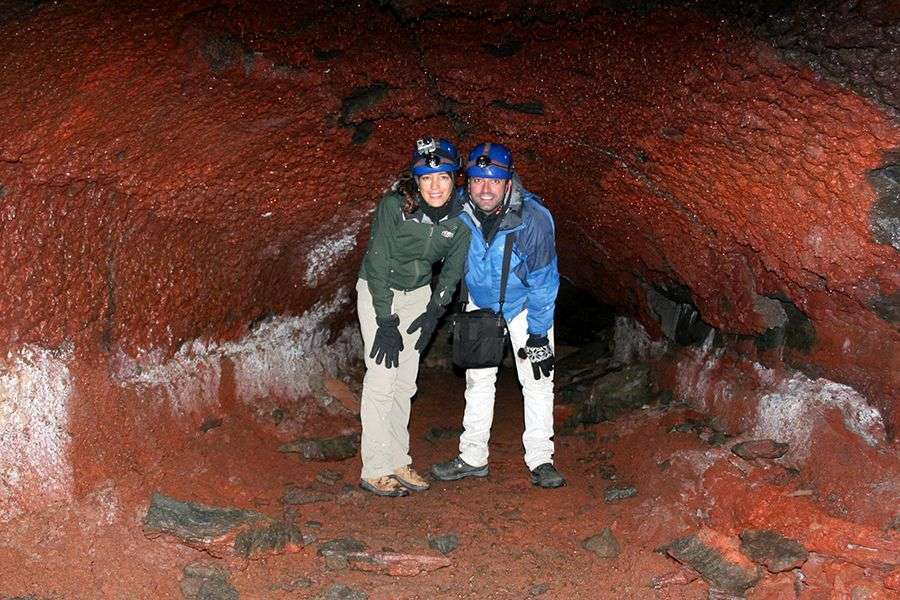
[[[453,201],[459,165],[449,141],[416,142],[409,175],[378,206],[356,285],[366,357],[360,486],[379,496],[429,487],[410,466],[407,426],[419,354],[453,296],[469,249],[469,229]],[[432,291],[432,266],[439,262]]]

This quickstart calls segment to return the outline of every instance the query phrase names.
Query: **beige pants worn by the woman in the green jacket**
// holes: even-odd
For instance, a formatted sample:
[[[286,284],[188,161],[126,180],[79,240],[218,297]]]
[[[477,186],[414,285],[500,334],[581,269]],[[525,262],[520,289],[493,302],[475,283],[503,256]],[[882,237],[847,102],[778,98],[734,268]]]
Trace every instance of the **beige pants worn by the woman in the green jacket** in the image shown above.
[[[413,319],[417,318],[431,299],[431,286],[424,285],[411,292],[394,290],[394,314],[400,317],[400,335],[403,350],[400,365],[388,369],[369,358],[378,324],[369,284],[360,279],[356,283],[356,309],[363,336],[366,376],[363,379],[359,418],[362,421],[362,473],[363,479],[375,479],[390,475],[396,469],[412,463],[409,456],[409,407],[416,394],[416,377],[419,374],[419,351],[416,341],[421,331],[406,333]]]

